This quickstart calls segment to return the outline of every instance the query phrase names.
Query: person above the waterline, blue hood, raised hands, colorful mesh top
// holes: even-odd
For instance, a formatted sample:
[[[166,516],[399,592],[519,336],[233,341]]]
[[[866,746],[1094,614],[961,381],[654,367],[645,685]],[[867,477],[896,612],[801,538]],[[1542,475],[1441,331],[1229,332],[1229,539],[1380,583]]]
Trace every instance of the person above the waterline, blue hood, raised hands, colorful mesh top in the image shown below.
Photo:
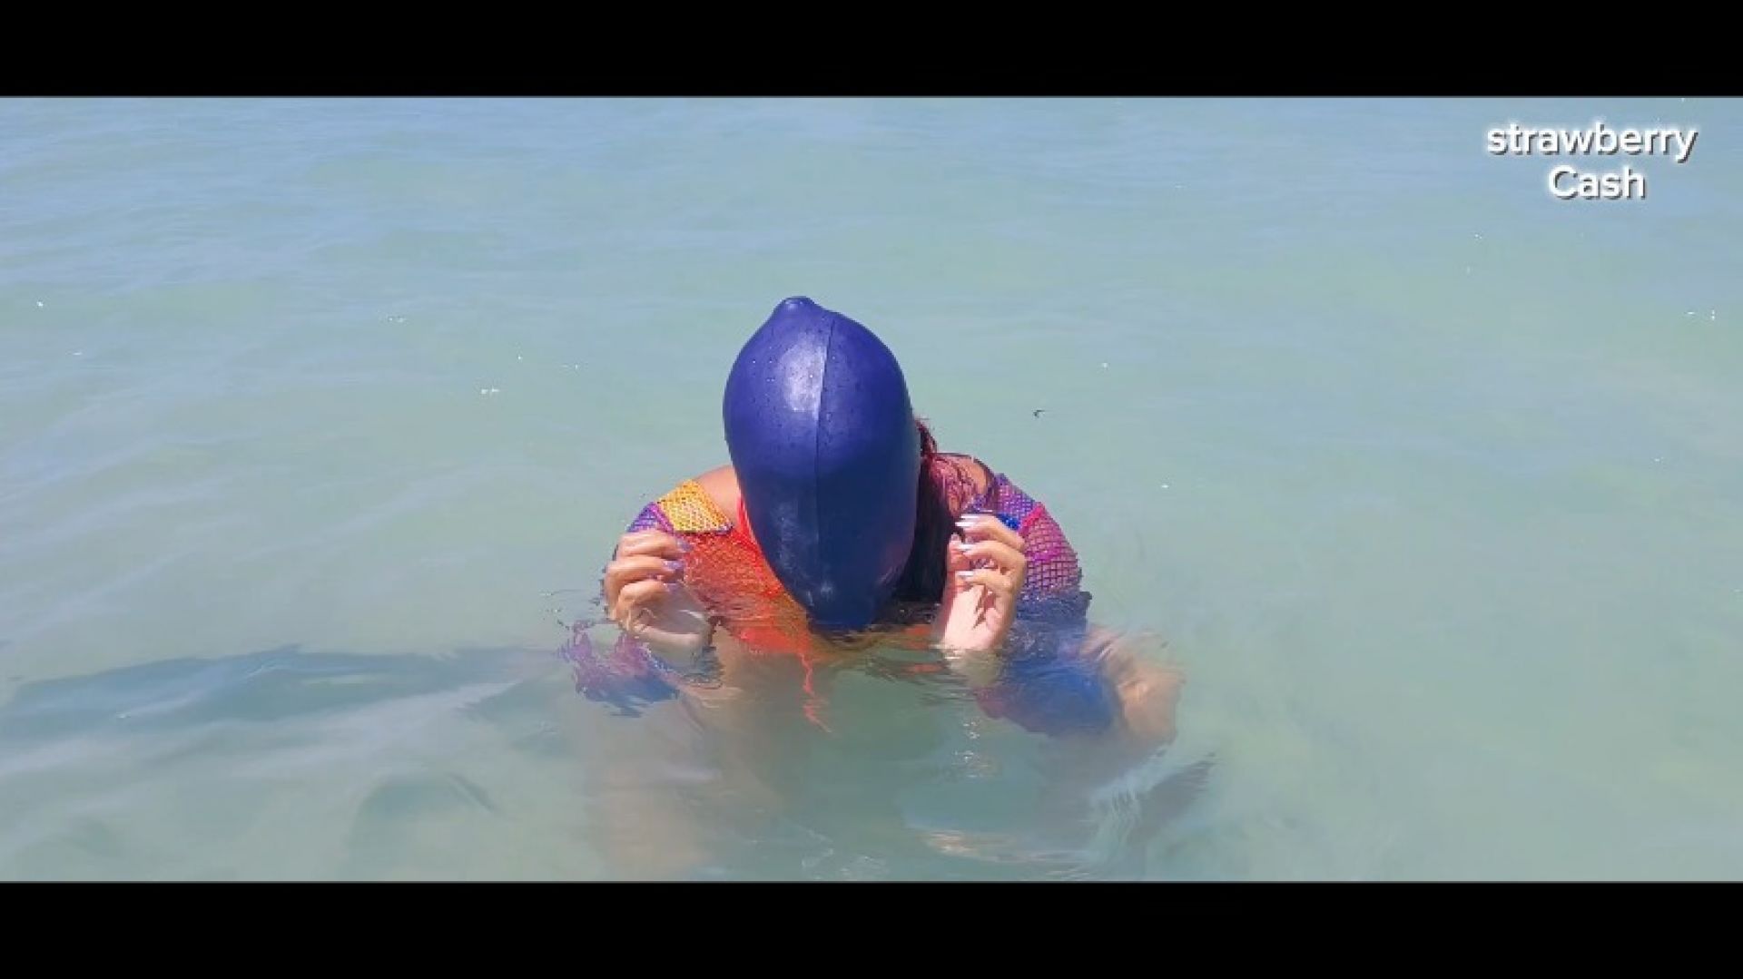
[[[723,418],[732,463],[650,502],[617,542],[603,603],[622,634],[610,657],[575,657],[591,697],[797,679],[821,723],[830,667],[884,641],[938,650],[913,667],[955,672],[985,712],[1035,732],[1173,737],[1178,674],[1089,629],[1058,523],[938,451],[865,326],[784,300],[739,352]]]

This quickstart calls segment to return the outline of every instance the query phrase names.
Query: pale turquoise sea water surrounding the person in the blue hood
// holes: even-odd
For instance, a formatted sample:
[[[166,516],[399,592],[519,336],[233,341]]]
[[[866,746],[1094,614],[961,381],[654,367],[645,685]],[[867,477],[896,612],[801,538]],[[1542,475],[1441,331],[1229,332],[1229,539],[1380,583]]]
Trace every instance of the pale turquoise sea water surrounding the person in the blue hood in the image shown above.
[[[1593,117],[1699,138],[1574,160],[1645,200],[1487,153]],[[1740,124],[3,101],[0,878],[1743,876]],[[791,294],[1166,639],[1166,756],[877,676],[725,756],[573,692],[566,589],[725,462]]]

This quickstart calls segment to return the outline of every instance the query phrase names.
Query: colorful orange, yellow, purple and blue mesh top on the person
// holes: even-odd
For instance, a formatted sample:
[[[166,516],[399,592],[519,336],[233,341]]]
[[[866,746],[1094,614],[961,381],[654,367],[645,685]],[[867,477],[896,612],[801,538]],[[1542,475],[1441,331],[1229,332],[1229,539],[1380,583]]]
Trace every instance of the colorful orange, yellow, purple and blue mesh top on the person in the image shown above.
[[[974,481],[945,456],[933,458],[931,474],[945,490],[952,519],[992,512],[1023,537],[1028,557],[1006,665],[999,683],[976,693],[981,709],[1051,733],[1103,728],[1114,711],[1112,695],[1096,665],[1075,655],[1088,625],[1089,594],[1081,587],[1077,552],[1060,524],[1002,474],[994,476],[983,493],[976,493]],[[688,544],[685,582],[711,611],[716,629],[758,653],[809,655],[814,638],[805,611],[756,547],[743,500],[736,519],[729,519],[701,484],[685,481],[647,503],[626,533],[641,530],[662,530]],[[579,692],[626,712],[634,712],[638,700],[676,697],[683,678],[671,665],[622,632],[601,655],[587,639],[586,625],[573,629],[565,650],[575,665]]]

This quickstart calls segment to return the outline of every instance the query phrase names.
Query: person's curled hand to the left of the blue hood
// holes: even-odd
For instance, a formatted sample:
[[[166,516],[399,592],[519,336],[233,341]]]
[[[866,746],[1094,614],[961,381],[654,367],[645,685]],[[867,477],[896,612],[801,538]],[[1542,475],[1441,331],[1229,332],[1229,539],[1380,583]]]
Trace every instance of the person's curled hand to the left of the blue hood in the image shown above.
[[[659,655],[694,657],[708,648],[708,610],[683,584],[687,545],[659,530],[626,533],[605,566],[605,608],[629,636]]]

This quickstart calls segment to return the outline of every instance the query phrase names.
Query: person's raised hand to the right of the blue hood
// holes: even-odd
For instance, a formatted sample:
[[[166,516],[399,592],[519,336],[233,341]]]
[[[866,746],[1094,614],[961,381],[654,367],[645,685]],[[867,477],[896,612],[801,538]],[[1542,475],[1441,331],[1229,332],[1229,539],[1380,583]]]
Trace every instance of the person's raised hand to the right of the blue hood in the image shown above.
[[[955,653],[994,652],[1009,636],[1023,594],[1023,538],[992,514],[966,514],[957,526],[962,530],[945,545],[939,645]]]

